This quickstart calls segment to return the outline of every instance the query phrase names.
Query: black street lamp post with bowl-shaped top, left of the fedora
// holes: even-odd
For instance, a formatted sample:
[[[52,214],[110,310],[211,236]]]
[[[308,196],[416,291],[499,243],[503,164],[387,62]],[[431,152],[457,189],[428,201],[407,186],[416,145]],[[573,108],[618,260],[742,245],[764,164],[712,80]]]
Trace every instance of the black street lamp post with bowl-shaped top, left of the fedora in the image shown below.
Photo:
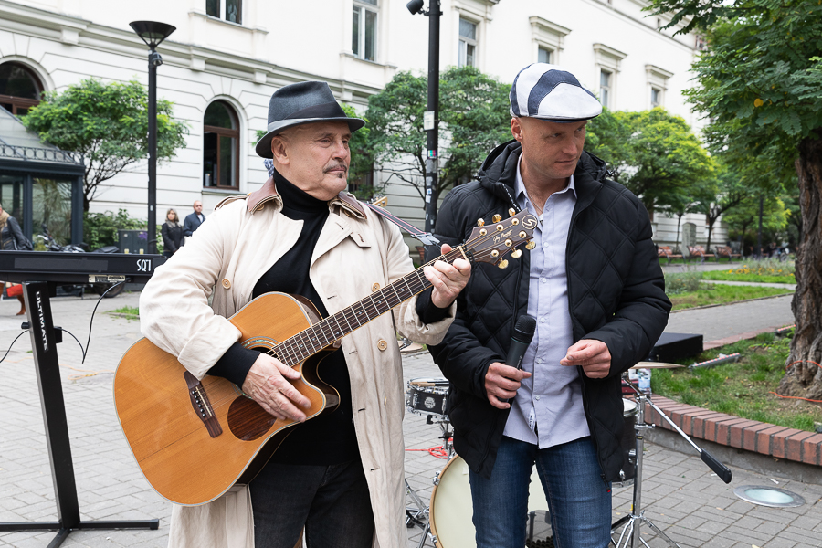
[[[149,181],[148,181],[148,252],[157,252],[157,67],[163,58],[156,49],[176,30],[175,26],[156,21],[132,21],[129,26],[142,38],[149,51]]]

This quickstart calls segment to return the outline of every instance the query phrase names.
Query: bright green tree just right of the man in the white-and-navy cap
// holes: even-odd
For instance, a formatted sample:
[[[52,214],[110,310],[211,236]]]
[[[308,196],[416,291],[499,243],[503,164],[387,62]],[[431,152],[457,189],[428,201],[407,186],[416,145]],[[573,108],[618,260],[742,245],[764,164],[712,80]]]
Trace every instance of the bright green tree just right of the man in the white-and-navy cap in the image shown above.
[[[688,123],[664,109],[604,111],[588,126],[585,148],[608,163],[648,212],[680,208],[714,176],[711,157]]]

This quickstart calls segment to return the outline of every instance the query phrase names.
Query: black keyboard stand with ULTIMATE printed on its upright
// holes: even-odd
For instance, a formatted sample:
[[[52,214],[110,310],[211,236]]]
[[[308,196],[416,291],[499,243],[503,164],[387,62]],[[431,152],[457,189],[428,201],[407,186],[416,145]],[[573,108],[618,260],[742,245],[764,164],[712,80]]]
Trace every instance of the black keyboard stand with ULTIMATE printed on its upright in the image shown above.
[[[57,503],[57,522],[11,522],[0,523],[0,532],[58,530],[47,548],[57,548],[68,538],[68,534],[79,529],[157,529],[160,520],[84,522],[80,521],[77,500],[77,483],[71,462],[71,446],[68,438],[66,405],[57,353],[57,333],[51,316],[49,283],[25,282],[23,295],[26,300],[28,325],[31,332],[31,348],[37,367],[37,384],[40,388],[40,404],[43,408],[43,422],[46,426],[48,460],[51,463],[51,477],[54,481],[54,495]]]

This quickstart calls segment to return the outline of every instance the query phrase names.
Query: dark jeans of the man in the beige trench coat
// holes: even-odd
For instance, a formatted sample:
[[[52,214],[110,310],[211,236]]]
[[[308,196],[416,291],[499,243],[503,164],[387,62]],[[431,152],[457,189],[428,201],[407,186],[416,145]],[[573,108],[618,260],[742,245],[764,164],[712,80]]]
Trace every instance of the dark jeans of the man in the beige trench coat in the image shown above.
[[[374,512],[359,460],[331,466],[269,462],[248,484],[256,548],[371,548]]]

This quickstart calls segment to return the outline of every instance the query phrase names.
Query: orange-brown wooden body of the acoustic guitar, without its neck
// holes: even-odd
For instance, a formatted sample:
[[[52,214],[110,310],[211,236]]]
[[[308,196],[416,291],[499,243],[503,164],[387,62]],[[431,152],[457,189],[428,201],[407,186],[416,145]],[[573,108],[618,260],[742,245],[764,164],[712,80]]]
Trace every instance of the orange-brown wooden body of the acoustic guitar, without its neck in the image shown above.
[[[284,293],[251,300],[231,321],[247,348],[269,350],[320,320],[311,302]],[[308,420],[339,405],[317,365],[332,347],[295,366],[295,387],[311,400]],[[294,421],[276,419],[226,379],[194,375],[147,339],[135,342],[114,375],[114,405],[143,475],[169,501],[213,501],[248,483],[288,436]]]

